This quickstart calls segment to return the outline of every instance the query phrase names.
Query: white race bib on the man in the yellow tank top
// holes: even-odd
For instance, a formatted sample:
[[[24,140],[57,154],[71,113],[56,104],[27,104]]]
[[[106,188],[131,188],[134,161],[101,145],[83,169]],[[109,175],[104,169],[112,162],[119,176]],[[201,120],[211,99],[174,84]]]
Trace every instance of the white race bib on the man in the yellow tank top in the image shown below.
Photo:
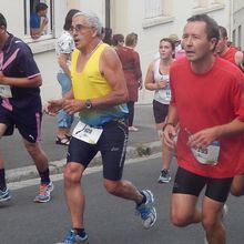
[[[88,142],[89,144],[96,144],[102,131],[103,129],[92,128],[79,121],[77,126],[73,129],[72,136],[83,142]]]

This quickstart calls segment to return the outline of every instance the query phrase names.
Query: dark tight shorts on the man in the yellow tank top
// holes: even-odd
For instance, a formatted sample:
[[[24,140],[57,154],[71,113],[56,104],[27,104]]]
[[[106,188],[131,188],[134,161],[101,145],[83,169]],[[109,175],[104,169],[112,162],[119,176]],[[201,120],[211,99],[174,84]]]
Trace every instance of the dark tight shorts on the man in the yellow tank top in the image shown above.
[[[96,144],[89,144],[71,138],[68,150],[68,163],[81,163],[85,167],[100,151],[103,163],[103,177],[119,181],[122,177],[128,143],[128,125],[125,120],[111,121],[103,126]]]

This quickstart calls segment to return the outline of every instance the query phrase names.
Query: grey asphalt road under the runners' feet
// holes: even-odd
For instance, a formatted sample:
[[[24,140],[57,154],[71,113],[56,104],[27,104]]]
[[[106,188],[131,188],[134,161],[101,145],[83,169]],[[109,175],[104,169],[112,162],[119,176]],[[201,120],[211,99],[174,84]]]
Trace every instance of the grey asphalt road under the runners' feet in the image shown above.
[[[170,184],[159,184],[160,154],[125,164],[124,179],[140,189],[150,189],[155,196],[157,222],[151,230],[144,230],[134,215],[134,203],[109,195],[102,186],[102,174],[96,169],[83,177],[87,194],[85,228],[90,244],[202,244],[204,233],[200,225],[184,228],[173,226],[169,220]],[[172,174],[175,173],[175,163]],[[55,180],[54,180],[55,179]],[[12,201],[0,205],[1,244],[54,244],[70,228],[62,176],[53,176],[55,190],[47,204],[32,202],[39,180],[10,184]],[[26,186],[29,185],[29,186]],[[227,244],[243,244],[244,199],[228,199],[226,217]]]

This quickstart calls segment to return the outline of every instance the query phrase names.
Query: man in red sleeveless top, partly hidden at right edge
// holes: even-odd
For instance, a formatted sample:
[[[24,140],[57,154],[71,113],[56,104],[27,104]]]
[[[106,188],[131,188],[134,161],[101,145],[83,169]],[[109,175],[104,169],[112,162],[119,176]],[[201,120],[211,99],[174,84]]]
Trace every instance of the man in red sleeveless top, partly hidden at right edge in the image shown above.
[[[237,65],[242,71],[244,71],[244,54],[234,47],[227,45],[227,31],[224,27],[218,26],[220,40],[216,45],[216,53],[230,62]]]

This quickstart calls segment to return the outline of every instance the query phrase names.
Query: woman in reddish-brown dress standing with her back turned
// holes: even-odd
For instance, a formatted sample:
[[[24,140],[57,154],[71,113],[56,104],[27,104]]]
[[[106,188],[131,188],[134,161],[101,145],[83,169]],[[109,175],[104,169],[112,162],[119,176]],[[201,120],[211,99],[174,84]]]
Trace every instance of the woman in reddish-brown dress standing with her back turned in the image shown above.
[[[120,57],[123,72],[129,91],[129,131],[139,131],[133,126],[134,120],[134,103],[139,98],[139,89],[142,89],[142,71],[139,53],[134,50],[138,44],[138,34],[130,33],[125,38],[125,47],[119,47],[116,52]]]

